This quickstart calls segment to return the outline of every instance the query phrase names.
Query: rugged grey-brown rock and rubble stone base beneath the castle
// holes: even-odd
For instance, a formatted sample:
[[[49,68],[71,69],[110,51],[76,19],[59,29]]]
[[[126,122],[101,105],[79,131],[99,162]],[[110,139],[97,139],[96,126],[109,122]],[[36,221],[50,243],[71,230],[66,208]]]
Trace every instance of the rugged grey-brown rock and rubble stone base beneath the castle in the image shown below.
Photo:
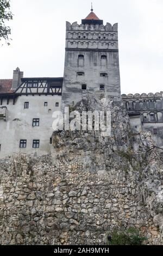
[[[1,160],[1,245],[104,245],[128,227],[162,245],[163,167],[160,150],[148,151],[151,134],[130,130],[119,98],[76,109],[109,109],[111,136],[54,132],[51,155]]]

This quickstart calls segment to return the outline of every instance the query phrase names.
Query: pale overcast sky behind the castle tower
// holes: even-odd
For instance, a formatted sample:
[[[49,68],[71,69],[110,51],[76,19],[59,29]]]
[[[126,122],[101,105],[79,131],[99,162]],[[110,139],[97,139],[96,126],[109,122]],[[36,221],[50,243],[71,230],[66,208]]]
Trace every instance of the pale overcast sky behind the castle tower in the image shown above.
[[[0,79],[17,66],[24,77],[60,77],[64,72],[65,25],[84,19],[91,0],[11,0],[11,45],[0,47]],[[163,1],[93,0],[96,15],[118,22],[122,93],[163,90]]]

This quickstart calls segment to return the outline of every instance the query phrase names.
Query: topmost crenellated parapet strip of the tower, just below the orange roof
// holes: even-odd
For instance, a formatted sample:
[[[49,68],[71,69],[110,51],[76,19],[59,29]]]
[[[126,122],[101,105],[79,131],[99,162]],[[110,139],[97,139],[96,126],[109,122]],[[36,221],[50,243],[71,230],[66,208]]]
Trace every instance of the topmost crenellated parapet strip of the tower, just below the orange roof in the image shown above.
[[[115,23],[113,26],[110,23],[106,23],[106,25],[93,25],[93,24],[78,24],[77,21],[72,24],[66,21],[66,31],[101,31],[101,32],[117,32],[118,31],[118,23]]]

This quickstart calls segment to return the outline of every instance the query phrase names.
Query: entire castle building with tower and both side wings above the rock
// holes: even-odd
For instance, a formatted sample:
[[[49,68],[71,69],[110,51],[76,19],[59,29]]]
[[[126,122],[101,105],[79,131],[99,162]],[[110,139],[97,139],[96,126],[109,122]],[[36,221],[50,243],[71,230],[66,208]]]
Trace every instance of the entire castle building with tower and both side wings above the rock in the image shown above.
[[[66,22],[64,77],[0,80],[0,158],[12,153],[43,155],[52,149],[52,114],[91,94],[121,96],[117,23],[103,25],[93,9],[77,22]],[[131,127],[151,131],[163,147],[162,92],[122,95]]]

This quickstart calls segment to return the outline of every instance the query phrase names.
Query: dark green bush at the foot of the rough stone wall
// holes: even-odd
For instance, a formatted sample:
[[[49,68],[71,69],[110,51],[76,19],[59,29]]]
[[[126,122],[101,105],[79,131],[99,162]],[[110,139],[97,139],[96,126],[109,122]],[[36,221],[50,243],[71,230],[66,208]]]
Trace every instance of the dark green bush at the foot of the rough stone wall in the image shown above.
[[[142,245],[144,240],[146,238],[139,235],[139,230],[128,228],[126,231],[113,231],[110,245]]]

